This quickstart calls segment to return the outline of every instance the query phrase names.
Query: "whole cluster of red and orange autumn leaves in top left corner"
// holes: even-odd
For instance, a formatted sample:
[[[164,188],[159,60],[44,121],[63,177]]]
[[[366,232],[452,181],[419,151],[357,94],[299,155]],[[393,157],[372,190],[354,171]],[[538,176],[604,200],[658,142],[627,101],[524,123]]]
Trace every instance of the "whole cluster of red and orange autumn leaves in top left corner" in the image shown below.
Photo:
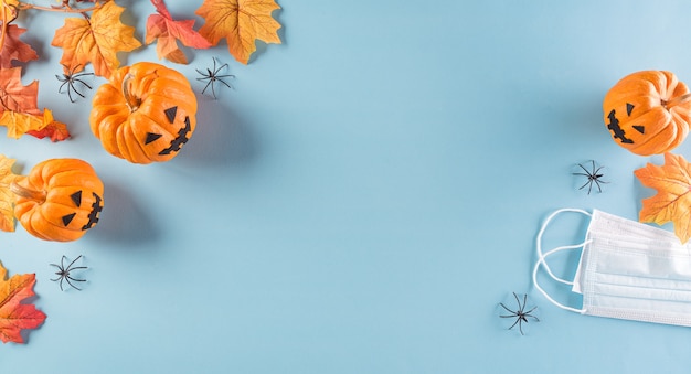
[[[257,40],[280,43],[280,24],[273,18],[280,7],[275,0],[203,0],[195,11],[204,20],[199,30],[194,30],[192,19],[174,19],[163,0],[150,1],[156,12],[147,19],[145,42],[156,43],[160,60],[187,64],[180,44],[209,49],[225,39],[231,55],[248,64]],[[118,54],[143,44],[135,36],[135,28],[123,23],[121,15],[127,9],[116,0],[63,0],[52,7],[0,0],[0,125],[8,128],[9,137],[29,133],[60,141],[70,137],[66,125],[54,120],[49,109],[39,107],[39,82],[22,85],[22,70],[17,66],[39,60],[36,51],[21,40],[26,29],[15,23],[21,22],[21,13],[40,10],[72,14],[55,30],[51,41],[52,46],[62,50],[60,64],[65,78],[88,65],[95,75],[108,78],[120,65]]]

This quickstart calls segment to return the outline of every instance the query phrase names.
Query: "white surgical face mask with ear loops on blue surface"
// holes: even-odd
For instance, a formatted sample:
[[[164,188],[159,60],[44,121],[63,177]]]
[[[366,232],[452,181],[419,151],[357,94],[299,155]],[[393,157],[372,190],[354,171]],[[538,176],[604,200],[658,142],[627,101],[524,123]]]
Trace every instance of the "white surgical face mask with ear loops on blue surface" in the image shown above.
[[[548,224],[562,212],[591,216],[585,241],[542,250]],[[546,258],[583,248],[573,281],[556,277]],[[536,238],[535,288],[555,306],[582,314],[691,327],[691,247],[674,234],[595,210],[564,209],[550,215]],[[583,295],[583,307],[555,301],[538,282],[538,270]]]

